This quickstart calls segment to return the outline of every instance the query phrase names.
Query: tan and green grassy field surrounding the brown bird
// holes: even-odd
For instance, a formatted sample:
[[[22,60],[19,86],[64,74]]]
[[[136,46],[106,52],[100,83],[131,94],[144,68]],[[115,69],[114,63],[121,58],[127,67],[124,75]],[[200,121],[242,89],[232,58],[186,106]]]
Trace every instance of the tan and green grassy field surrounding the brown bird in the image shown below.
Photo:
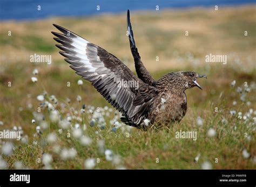
[[[205,162],[210,162],[212,169],[255,169],[255,21],[252,19],[255,11],[253,7],[240,7],[219,12],[208,9],[166,10],[149,17],[146,12],[132,15],[140,55],[154,78],[180,70],[196,71],[208,77],[199,80],[203,90],[193,88],[186,91],[188,110],[179,124],[146,132],[127,126],[120,126],[113,132],[113,122],[119,121],[119,114],[90,83],[84,81],[83,85],[77,85],[80,77],[57,53],[50,34],[52,23],[73,27],[72,31],[90,38],[134,70],[127,50],[129,42],[125,35],[124,15],[79,18],[78,22],[75,18],[52,18],[37,23],[1,23],[0,121],[3,121],[3,126],[0,126],[0,131],[21,126],[24,135],[21,141],[12,141],[15,146],[13,153],[9,156],[2,154],[0,163],[6,162],[9,169],[17,168],[17,161],[30,169],[85,169],[85,160],[92,158],[95,159],[95,169],[201,169]],[[245,24],[241,20],[246,20]],[[196,26],[189,25],[190,22]],[[95,30],[105,23],[109,24],[104,25],[104,32]],[[84,26],[88,24],[90,27]],[[186,27],[190,37],[184,35]],[[13,34],[12,41],[6,38],[5,31],[9,30]],[[239,35],[244,30],[248,30],[247,38]],[[33,53],[52,55],[52,64],[29,62],[29,55]],[[208,53],[227,54],[228,63],[206,64],[204,57]],[[159,56],[158,62],[156,56]],[[39,70],[37,83],[31,81],[35,68]],[[235,87],[231,87],[233,80],[236,80]],[[250,92],[245,92],[245,82]],[[11,87],[8,87],[9,83]],[[236,91],[238,87],[242,88],[242,93]],[[44,120],[35,116],[43,103],[37,100],[37,96],[43,91],[48,92],[45,100],[59,112],[59,120],[73,116],[68,128],[52,120],[48,108],[41,107],[41,112],[38,112]],[[50,100],[51,95],[56,96],[57,105]],[[77,101],[77,95],[82,97],[81,102]],[[242,95],[246,95],[245,100],[240,99]],[[71,102],[68,103],[66,98]],[[237,104],[234,105],[234,101]],[[86,105],[85,113],[81,112],[83,104]],[[102,123],[90,126],[91,119],[96,118],[93,115],[99,114],[97,107],[104,117],[103,130]],[[230,113],[232,110],[236,111],[234,116]],[[242,117],[247,116],[246,119],[240,119],[238,112]],[[198,117],[203,119],[203,126],[197,125]],[[35,124],[31,123],[32,119],[36,119]],[[79,124],[83,135],[90,139],[89,145],[82,145],[79,138],[75,138],[75,124]],[[86,130],[83,130],[84,125]],[[42,133],[37,133],[37,126],[41,126]],[[62,133],[59,133],[60,128]],[[210,128],[215,130],[213,137],[207,135]],[[180,130],[197,132],[197,140],[177,139],[176,132]],[[49,134],[50,137],[55,134],[56,140],[52,142]],[[101,140],[104,141],[102,147],[98,145]],[[0,152],[5,141],[9,140],[0,139]],[[74,148],[76,156],[63,159],[65,148]],[[106,149],[112,151],[112,161],[104,154]],[[245,150],[249,157],[243,154]],[[45,164],[46,154],[52,156],[50,164]],[[194,159],[198,155],[196,162]]]

